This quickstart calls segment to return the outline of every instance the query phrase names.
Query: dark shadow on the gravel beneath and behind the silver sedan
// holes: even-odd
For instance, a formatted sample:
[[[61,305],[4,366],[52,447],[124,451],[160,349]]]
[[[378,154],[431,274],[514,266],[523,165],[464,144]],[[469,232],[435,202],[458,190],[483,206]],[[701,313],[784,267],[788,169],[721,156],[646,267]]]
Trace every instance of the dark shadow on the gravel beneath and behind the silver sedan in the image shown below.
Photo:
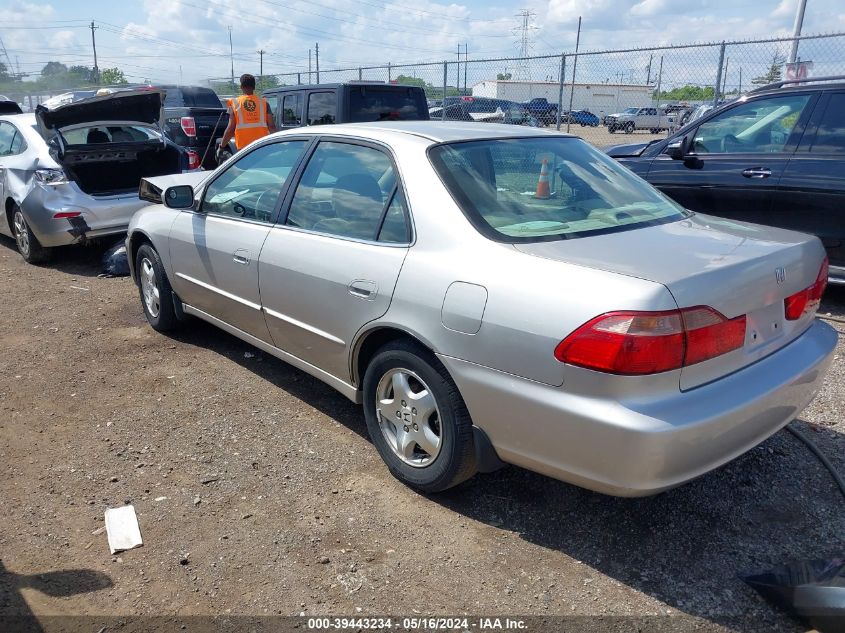
[[[368,438],[359,406],[221,334],[195,320],[171,336],[237,362]],[[839,468],[845,466],[845,435],[797,424]],[[740,575],[794,560],[841,556],[845,533],[842,497],[828,472],[785,431],[725,467],[654,497],[609,497],[506,467],[430,500],[580,561],[584,580],[604,575],[653,596],[675,614],[738,631],[802,630],[764,603]],[[543,573],[542,562],[537,573]]]

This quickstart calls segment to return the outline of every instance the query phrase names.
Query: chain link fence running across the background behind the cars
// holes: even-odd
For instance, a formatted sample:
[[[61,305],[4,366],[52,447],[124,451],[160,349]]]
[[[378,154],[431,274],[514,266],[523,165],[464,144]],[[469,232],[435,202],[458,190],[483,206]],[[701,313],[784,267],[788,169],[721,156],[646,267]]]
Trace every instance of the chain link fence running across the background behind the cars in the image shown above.
[[[798,63],[787,64],[796,39]],[[697,108],[734,99],[760,85],[833,75],[845,75],[845,33],[524,58],[314,68],[273,75],[272,83],[418,85],[425,89],[433,119],[555,127],[607,146],[663,137]],[[229,85],[228,78],[209,79],[212,86],[222,82]]]

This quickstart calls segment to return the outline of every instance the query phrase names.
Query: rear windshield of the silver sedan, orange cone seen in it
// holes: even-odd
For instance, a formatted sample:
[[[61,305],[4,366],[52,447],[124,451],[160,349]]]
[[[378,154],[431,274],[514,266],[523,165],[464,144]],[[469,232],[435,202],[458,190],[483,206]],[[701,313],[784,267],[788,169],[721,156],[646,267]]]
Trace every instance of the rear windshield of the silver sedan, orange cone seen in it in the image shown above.
[[[500,242],[570,239],[688,216],[577,138],[447,143],[432,147],[429,156],[473,225]]]

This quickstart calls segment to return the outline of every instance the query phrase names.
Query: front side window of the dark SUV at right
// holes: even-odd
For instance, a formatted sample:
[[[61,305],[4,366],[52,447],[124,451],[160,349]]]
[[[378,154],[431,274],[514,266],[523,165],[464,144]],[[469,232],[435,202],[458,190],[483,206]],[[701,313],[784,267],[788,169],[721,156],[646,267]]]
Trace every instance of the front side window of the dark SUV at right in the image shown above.
[[[810,95],[757,99],[731,108],[701,124],[696,154],[775,154],[785,152]]]

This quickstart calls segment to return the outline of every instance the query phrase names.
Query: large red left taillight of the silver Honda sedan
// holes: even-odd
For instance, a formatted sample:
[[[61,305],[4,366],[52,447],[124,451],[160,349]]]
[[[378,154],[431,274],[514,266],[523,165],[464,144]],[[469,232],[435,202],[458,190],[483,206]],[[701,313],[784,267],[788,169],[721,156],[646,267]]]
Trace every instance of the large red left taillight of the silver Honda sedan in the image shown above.
[[[739,349],[745,315],[727,319],[696,306],[663,312],[609,312],[588,321],[555,348],[562,363],[639,376],[680,369]]]

